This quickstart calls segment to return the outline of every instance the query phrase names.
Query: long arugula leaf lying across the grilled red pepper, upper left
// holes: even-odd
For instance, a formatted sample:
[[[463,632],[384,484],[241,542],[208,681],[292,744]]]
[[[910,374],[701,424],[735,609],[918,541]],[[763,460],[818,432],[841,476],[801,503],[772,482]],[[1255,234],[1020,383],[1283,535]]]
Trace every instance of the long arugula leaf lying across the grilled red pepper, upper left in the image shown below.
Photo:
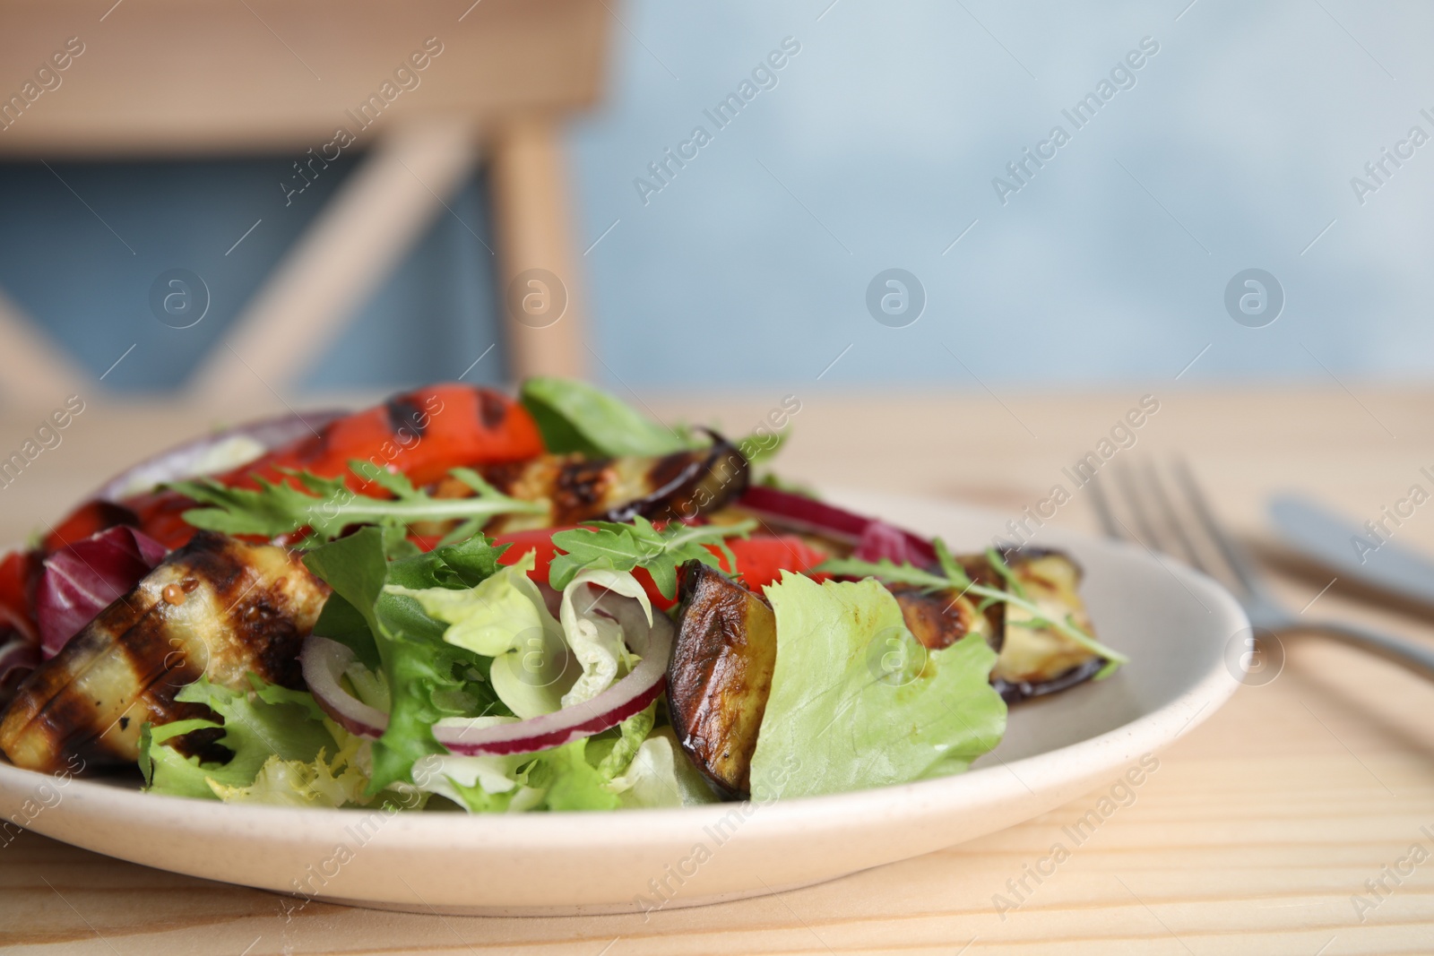
[[[386,532],[386,553],[390,555],[410,555],[416,550],[404,539],[407,526],[414,522],[459,519],[462,523],[443,539],[443,543],[449,543],[472,537],[495,515],[542,515],[548,510],[543,502],[508,497],[470,469],[452,469],[449,473],[472,487],[476,492],[473,497],[433,497],[413,487],[406,476],[360,459],[351,460],[348,469],[393,497],[358,494],[344,484],[343,477],[323,479],[291,470],[285,470],[285,474],[301,487],[262,477],[257,479],[258,489],[228,487],[212,477],[174,482],[168,487],[208,505],[184,513],[184,519],[195,527],[227,535],[275,537],[307,526],[310,535],[300,548],[314,548],[338,537],[350,525],[377,525]]]

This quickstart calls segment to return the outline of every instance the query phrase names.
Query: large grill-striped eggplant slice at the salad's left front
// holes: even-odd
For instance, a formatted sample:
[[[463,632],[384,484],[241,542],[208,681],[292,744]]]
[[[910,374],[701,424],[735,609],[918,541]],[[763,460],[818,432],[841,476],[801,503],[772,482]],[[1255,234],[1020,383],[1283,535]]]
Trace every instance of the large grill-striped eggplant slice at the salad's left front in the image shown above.
[[[143,724],[214,720],[174,699],[201,675],[247,688],[252,672],[301,688],[300,644],[327,596],[295,553],[199,532],[20,685],[0,720],[0,751],[40,771],[72,757],[133,764]]]

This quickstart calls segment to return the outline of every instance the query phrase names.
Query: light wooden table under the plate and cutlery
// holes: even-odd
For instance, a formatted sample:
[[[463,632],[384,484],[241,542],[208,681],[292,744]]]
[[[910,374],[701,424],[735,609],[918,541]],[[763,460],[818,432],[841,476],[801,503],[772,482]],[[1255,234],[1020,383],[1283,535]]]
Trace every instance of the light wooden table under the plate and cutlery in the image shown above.
[[[673,417],[757,424],[782,394],[663,400]],[[792,477],[879,486],[1008,510],[1044,497],[1144,390],[1088,396],[802,393],[783,453]],[[1301,489],[1349,516],[1424,482],[1434,396],[1357,388],[1159,391],[1160,410],[1120,451],[1192,460],[1238,526],[1263,497]],[[1001,403],[1004,401],[1004,404]],[[10,410],[0,450],[46,408]],[[202,411],[92,398],[0,490],[13,540],[53,519],[109,469],[214,420]],[[1038,436],[1038,437],[1037,437]],[[1397,437],[1395,437],[1397,436]],[[1093,526],[1087,502],[1057,516]],[[1434,549],[1434,510],[1400,540]],[[1283,576],[1299,608],[1326,583]],[[1420,641],[1431,619],[1357,603],[1336,582],[1312,612]],[[1004,833],[777,897],[667,910],[650,919],[442,919],[313,904],[120,863],[23,834],[0,851],[0,946],[76,953],[1341,953],[1434,952],[1434,856],[1385,899],[1365,886],[1421,844],[1434,854],[1434,687],[1322,639],[1285,641],[1278,679],[1242,688],[1160,754],[1160,768],[1015,912],[992,897],[1061,838],[1096,797]],[[1428,827],[1428,830],[1421,830]],[[1127,889],[1129,887],[1129,889]],[[1355,897],[1378,906],[1359,913]],[[1362,916],[1362,920],[1361,920]]]

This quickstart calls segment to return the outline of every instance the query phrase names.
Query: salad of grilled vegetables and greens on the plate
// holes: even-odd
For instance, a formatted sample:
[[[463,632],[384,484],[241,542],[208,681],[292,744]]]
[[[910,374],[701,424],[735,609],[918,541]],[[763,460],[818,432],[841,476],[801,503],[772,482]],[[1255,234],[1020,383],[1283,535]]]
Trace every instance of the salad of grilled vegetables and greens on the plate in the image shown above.
[[[1068,556],[756,477],[780,437],[531,378],[185,444],[0,562],[0,751],[225,803],[790,798],[961,773],[1124,662]]]

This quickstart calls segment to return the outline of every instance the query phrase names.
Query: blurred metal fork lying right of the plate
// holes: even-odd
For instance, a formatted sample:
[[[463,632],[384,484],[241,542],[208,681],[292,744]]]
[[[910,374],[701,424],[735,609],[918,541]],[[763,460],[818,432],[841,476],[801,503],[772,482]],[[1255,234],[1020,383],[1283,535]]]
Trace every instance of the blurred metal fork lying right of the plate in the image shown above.
[[[1301,616],[1304,612],[1301,615],[1291,613],[1255,570],[1255,563],[1246,550],[1216,520],[1215,512],[1184,462],[1177,462],[1172,469],[1173,483],[1183,493],[1183,507],[1176,506],[1176,499],[1166,490],[1166,482],[1153,463],[1147,462],[1144,467],[1113,470],[1116,472],[1116,484],[1124,497],[1123,510],[1131,517],[1136,529],[1133,530],[1116,516],[1103,487],[1104,476],[1097,473],[1090,482],[1091,500],[1108,537],[1131,540],[1147,550],[1166,553],[1172,553],[1170,545],[1173,543],[1180,552],[1179,556],[1183,556],[1193,568],[1225,585],[1235,585],[1235,598],[1245,608],[1256,634],[1260,629],[1276,635],[1321,634],[1362,651],[1378,654],[1434,679],[1434,649],[1358,623],[1306,619]],[[1157,530],[1157,526],[1163,527]],[[1203,548],[1200,546],[1202,540],[1205,542]]]

